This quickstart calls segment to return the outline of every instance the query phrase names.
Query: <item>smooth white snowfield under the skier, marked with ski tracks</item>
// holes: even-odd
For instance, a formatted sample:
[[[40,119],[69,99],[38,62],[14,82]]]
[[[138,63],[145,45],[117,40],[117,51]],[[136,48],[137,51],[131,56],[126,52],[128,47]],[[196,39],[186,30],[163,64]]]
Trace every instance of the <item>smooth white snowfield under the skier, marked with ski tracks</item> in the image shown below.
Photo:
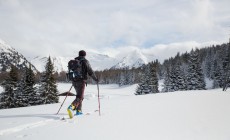
[[[70,84],[58,84],[60,92]],[[60,103],[0,110],[0,140],[229,140],[230,90],[180,91],[135,96],[136,85],[88,85],[83,112],[67,117]],[[74,92],[74,90],[72,90]]]

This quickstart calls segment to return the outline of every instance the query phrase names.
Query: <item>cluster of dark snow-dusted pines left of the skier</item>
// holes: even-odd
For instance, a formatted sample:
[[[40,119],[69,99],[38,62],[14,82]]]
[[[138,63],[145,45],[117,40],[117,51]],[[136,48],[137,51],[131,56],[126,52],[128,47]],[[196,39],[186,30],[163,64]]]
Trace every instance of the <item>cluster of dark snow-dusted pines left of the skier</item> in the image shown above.
[[[31,65],[25,67],[24,71],[11,65],[10,72],[2,74],[4,79],[1,86],[4,91],[0,94],[0,109],[58,102],[55,72],[50,57],[43,73],[34,74]]]

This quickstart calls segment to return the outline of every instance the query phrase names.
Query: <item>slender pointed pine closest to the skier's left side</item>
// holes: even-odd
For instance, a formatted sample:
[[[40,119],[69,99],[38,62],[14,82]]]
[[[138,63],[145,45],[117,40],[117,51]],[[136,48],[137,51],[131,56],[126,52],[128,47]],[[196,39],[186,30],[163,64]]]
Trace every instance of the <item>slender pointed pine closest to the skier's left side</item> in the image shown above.
[[[54,77],[54,66],[50,57],[47,60],[45,72],[42,73],[39,93],[42,97],[43,104],[58,102],[58,90],[56,85],[56,79]]]

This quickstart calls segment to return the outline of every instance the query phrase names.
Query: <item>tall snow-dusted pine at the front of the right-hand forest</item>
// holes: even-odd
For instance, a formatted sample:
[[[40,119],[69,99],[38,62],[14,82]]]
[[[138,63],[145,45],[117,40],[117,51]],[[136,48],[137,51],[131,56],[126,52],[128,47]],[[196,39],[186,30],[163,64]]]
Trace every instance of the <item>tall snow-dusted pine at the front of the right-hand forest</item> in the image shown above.
[[[202,90],[205,89],[204,74],[201,69],[199,61],[199,50],[192,50],[190,52],[188,62],[188,75],[187,75],[187,89],[188,90]]]

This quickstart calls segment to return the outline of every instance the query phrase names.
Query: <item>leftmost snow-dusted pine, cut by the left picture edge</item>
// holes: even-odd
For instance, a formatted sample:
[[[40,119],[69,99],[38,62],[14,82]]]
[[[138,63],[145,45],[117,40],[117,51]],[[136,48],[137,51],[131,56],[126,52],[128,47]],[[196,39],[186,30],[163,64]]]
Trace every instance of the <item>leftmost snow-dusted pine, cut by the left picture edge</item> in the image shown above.
[[[15,97],[18,93],[18,83],[18,69],[15,66],[11,65],[9,76],[2,83],[4,91],[1,94],[0,108],[18,107],[15,104]]]

